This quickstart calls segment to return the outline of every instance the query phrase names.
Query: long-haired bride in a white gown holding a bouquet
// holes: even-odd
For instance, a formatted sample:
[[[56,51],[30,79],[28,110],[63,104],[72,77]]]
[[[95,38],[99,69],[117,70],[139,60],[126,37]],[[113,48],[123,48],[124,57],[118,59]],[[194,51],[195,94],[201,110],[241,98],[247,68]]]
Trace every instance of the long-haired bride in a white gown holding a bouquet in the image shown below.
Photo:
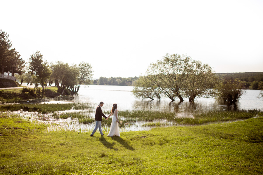
[[[113,104],[111,113],[108,116],[108,118],[113,114],[113,118],[110,125],[110,132],[107,136],[113,137],[113,136],[119,136],[120,137],[120,130],[119,130],[119,120],[118,120],[118,110],[117,110],[117,104]],[[108,119],[106,118],[106,119]]]

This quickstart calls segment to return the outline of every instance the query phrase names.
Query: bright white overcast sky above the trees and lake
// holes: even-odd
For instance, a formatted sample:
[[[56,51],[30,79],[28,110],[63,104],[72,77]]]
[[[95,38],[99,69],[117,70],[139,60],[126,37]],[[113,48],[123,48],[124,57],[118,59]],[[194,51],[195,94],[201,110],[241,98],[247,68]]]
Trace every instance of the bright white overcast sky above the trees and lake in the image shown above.
[[[166,53],[263,71],[262,0],[2,0],[0,29],[26,61],[89,62],[94,78],[139,76]]]

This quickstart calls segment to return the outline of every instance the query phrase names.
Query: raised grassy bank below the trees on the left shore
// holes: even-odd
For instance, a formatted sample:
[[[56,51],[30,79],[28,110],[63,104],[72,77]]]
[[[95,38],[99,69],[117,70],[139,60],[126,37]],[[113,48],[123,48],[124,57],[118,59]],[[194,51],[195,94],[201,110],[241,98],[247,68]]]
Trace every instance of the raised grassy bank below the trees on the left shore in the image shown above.
[[[56,87],[44,89],[44,97],[58,97],[60,94],[57,92]],[[65,95],[70,93],[65,90]],[[2,103],[21,102],[28,99],[42,98],[42,88],[21,88],[21,89],[1,89],[0,101]]]

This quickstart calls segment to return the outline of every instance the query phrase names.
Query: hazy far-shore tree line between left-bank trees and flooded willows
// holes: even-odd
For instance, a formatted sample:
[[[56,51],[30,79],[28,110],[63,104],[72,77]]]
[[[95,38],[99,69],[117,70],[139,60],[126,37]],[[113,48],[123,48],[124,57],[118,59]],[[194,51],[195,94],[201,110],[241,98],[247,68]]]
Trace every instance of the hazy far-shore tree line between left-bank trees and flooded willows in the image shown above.
[[[138,80],[138,77],[100,77],[99,79],[95,79],[93,81],[94,85],[115,85],[115,86],[133,86],[134,82]]]

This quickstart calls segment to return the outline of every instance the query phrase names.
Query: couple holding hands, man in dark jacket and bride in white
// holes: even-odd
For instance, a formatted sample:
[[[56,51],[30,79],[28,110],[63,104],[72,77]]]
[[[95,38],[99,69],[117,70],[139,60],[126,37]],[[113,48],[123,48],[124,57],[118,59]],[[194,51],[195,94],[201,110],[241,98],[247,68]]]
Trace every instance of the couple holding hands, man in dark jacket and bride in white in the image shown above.
[[[113,118],[112,118],[111,125],[110,125],[110,132],[107,136],[110,136],[110,137],[119,136],[120,137],[119,120],[118,120],[119,112],[117,110],[117,104],[116,103],[113,104],[111,113],[108,117],[106,117],[101,110],[101,107],[103,106],[103,104],[104,103],[101,101],[100,104],[96,108],[96,113],[95,113],[96,126],[95,126],[95,129],[90,134],[90,136],[93,136],[93,134],[96,132],[97,129],[99,129],[101,135],[103,136],[104,134],[101,129],[102,116],[106,120],[108,120],[108,118],[113,114]]]

